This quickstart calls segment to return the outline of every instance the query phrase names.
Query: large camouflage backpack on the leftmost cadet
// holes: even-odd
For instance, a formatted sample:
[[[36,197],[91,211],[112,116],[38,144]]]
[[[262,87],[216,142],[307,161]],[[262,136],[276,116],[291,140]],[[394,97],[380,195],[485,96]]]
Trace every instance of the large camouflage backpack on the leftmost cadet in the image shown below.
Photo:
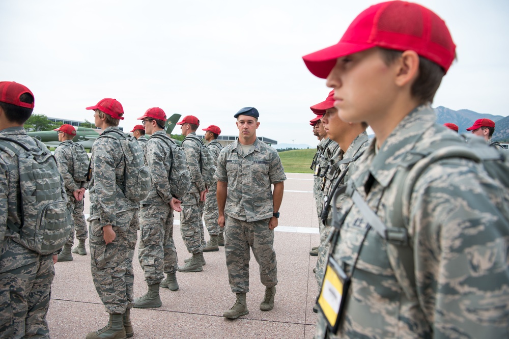
[[[0,150],[18,158],[19,170],[17,201],[21,224],[7,218],[7,227],[19,235],[15,242],[49,255],[61,249],[69,238],[72,207],[56,159],[44,145],[36,143],[37,147],[29,147],[0,137]]]

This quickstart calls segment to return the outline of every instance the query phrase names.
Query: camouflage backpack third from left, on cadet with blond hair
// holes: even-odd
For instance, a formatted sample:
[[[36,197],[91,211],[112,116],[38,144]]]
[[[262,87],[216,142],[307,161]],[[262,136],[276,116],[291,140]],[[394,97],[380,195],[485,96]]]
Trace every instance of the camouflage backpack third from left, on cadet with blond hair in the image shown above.
[[[143,161],[143,150],[136,138],[118,130],[106,131],[98,138],[109,137],[119,140],[124,154],[124,183],[122,190],[127,199],[139,203],[150,192],[150,169]]]

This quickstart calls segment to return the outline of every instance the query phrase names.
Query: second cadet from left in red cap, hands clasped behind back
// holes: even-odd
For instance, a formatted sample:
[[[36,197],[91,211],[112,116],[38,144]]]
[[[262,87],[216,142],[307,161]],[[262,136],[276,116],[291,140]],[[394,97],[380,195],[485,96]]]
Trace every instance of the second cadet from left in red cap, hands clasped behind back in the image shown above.
[[[69,241],[62,248],[59,261],[71,261],[71,247],[74,243],[74,231],[78,246],[72,249],[72,253],[80,256],[87,255],[85,240],[88,238],[87,222],[83,214],[83,196],[89,187],[87,181],[89,156],[82,145],[75,144],[72,139],[76,136],[76,129],[68,124],[55,128],[59,133],[61,144],[55,149],[55,159],[59,166],[60,174],[64,179],[67,200],[73,207],[73,225],[69,234]]]

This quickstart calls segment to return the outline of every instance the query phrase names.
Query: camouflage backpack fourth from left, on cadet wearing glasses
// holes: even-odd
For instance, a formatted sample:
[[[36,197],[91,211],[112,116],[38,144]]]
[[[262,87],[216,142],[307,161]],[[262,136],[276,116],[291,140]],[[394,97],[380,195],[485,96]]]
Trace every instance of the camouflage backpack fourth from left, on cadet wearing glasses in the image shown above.
[[[189,168],[187,168],[185,151],[168,136],[152,134],[149,140],[152,138],[163,140],[171,151],[172,164],[169,167],[168,173],[169,187],[172,190],[173,196],[181,199],[191,187],[191,174],[189,173]]]

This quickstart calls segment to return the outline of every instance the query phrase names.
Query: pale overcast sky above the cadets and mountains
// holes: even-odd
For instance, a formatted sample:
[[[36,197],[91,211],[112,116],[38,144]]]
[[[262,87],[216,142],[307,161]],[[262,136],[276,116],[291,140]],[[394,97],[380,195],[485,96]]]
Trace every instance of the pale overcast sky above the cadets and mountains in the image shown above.
[[[238,135],[233,115],[260,111],[258,136],[315,146],[309,106],[325,80],[302,55],[335,44],[377,1],[0,1],[2,80],[35,95],[37,114],[93,121],[104,97],[124,130],[150,107]],[[446,22],[458,61],[433,106],[507,116],[509,1],[422,0]],[[178,128],[175,132],[179,132]]]

